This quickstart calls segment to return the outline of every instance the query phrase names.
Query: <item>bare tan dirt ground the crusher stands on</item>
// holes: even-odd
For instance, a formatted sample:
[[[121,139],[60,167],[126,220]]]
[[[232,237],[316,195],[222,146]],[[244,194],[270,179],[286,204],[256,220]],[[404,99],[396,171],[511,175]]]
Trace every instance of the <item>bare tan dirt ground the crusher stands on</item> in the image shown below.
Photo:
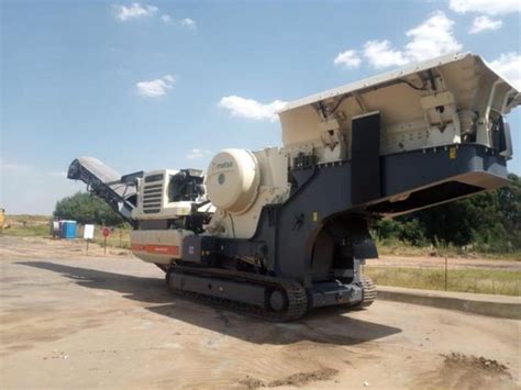
[[[377,301],[273,324],[125,250],[0,237],[2,388],[521,388],[521,322]]]

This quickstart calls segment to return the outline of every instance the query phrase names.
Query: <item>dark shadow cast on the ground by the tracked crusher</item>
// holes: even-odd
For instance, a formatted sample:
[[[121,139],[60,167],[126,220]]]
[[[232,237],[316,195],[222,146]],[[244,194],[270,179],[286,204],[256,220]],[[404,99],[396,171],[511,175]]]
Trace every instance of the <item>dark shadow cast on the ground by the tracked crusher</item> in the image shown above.
[[[401,332],[398,327],[351,317],[348,313],[344,314],[342,308],[317,310],[298,322],[270,323],[176,298],[167,290],[162,278],[136,277],[49,261],[16,264],[60,274],[81,287],[117,291],[126,299],[152,303],[145,309],[153,313],[255,344],[286,345],[308,341],[356,345]]]

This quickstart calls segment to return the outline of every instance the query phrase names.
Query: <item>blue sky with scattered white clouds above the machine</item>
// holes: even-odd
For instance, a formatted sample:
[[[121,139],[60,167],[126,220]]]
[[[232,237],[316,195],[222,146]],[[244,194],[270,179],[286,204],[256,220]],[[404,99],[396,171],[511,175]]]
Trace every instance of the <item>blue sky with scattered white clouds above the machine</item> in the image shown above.
[[[0,3],[8,213],[84,189],[65,178],[78,156],[124,174],[280,145],[284,102],[454,49],[521,80],[518,0]]]

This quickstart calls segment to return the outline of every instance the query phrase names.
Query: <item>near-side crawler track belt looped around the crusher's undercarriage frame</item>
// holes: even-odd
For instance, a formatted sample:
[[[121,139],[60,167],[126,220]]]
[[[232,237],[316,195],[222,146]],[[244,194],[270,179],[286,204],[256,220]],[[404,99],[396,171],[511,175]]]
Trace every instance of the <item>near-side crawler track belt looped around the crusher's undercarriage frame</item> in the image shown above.
[[[186,291],[176,289],[169,283],[169,276],[171,272],[195,275],[204,278],[212,279],[224,279],[233,280],[235,282],[250,283],[250,285],[262,285],[268,289],[279,289],[285,292],[287,298],[287,304],[284,311],[275,312],[268,308],[259,308],[257,305],[231,301],[218,297],[206,296],[198,292]],[[304,288],[297,281],[286,280],[276,277],[269,277],[257,274],[241,272],[241,271],[229,271],[219,268],[193,268],[174,266],[170,267],[166,274],[166,282],[170,291],[178,297],[189,299],[196,302],[202,302],[213,308],[221,308],[231,310],[234,312],[247,314],[257,319],[273,321],[273,322],[287,322],[295,321],[302,317],[308,311],[308,297]]]

